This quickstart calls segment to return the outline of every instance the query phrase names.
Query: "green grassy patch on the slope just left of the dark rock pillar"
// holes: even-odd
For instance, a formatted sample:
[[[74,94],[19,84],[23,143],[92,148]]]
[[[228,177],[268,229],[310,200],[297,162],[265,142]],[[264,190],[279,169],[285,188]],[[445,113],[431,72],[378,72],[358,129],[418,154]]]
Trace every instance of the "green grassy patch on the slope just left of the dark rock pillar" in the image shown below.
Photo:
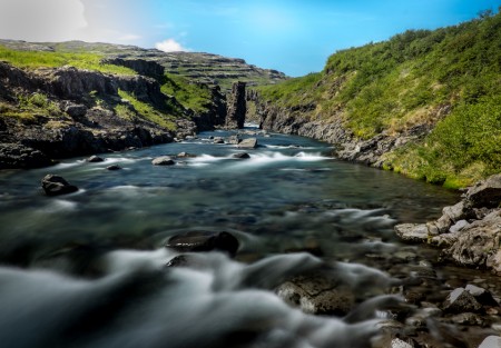
[[[212,102],[210,90],[206,84],[191,83],[175,74],[165,76],[161,92],[174,96],[185,108],[195,112],[205,112]]]

